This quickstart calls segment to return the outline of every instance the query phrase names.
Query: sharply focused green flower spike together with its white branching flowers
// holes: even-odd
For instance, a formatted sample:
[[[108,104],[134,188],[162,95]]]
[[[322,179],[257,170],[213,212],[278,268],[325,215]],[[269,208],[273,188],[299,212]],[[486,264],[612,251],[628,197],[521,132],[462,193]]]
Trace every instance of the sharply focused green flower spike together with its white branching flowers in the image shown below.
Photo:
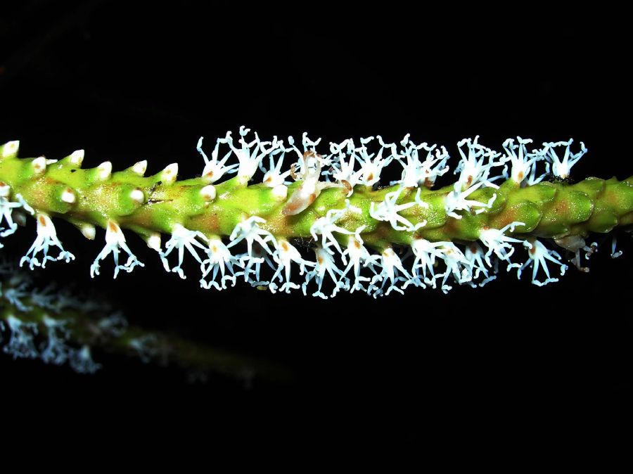
[[[23,259],[34,267],[44,266],[46,259],[72,258],[57,240],[51,218],[67,220],[91,239],[101,227],[106,229],[106,247],[91,271],[98,274],[98,262],[112,252],[116,276],[120,269],[131,271],[141,264],[121,230],[129,229],[160,252],[167,270],[167,257],[177,250],[179,264],[171,270],[182,277],[183,252],[191,252],[203,273],[200,283],[207,288],[226,288],[226,281],[235,283],[236,277],[244,276],[271,290],[279,288],[278,281],[289,291],[300,287],[290,278],[291,264],[298,264],[302,274],[307,271],[304,293],[314,278],[314,294],[326,297],[321,292],[325,278],[333,280],[333,294],[362,289],[382,295],[407,286],[435,287],[436,281],[447,290],[449,277],[474,286],[478,278],[479,284],[490,281],[499,261],[509,269],[518,268],[519,274],[533,265],[532,281],[537,284],[542,283],[537,280],[542,264],[548,283],[555,278],[549,276],[546,260],[563,271],[566,267],[541,241],[554,241],[574,252],[574,262],[582,269],[580,250],[590,250],[584,242],[589,233],[633,224],[633,177],[588,178],[575,184],[566,180],[570,167],[586,151],[582,144],[580,153],[571,153],[572,141],[544,143],[544,148],[530,151],[529,140],[509,140],[505,153],[485,148],[477,139],[462,141],[458,179],[433,188],[435,179],[448,170],[448,153],[426,143],[416,145],[409,136],[400,143],[401,151],[378,136],[377,153],[369,153],[366,146],[372,137],[361,139],[360,147],[352,140],[331,143],[331,154],[319,155],[319,141],[306,135],[301,151],[291,138],[286,148],[276,137],[262,142],[257,134],[248,143],[246,133],[241,129],[241,148],[234,146],[231,134],[219,139],[211,159],[202,152],[200,141],[205,169],[200,177],[181,181],[175,164],[150,177],[144,176],[146,162],[119,172],[112,171],[110,162],[82,169],[81,150],[59,161],[20,159],[17,142],[9,142],[0,148],[0,199],[9,225],[4,233],[15,230],[12,210],[34,215],[39,242]],[[230,151],[219,159],[222,144]],[[559,153],[563,148],[563,158],[557,148]],[[281,172],[286,153],[296,155],[295,164]],[[238,165],[226,165],[230,155],[236,155]],[[268,160],[270,166],[264,167]],[[402,165],[402,179],[378,186],[381,170],[390,162]],[[537,177],[540,163],[558,179]],[[249,184],[257,167],[264,178]],[[499,174],[492,176],[494,171]],[[236,176],[217,183],[231,172]],[[294,182],[285,181],[289,174]],[[161,234],[171,236],[164,249]],[[295,248],[298,239],[312,242],[314,261]],[[246,244],[245,252],[234,255],[238,244]],[[523,264],[511,262],[517,244],[527,250]],[[60,249],[58,257],[47,254],[51,245]],[[118,262],[121,250],[127,253],[125,264]],[[44,252],[41,262],[39,251]],[[412,266],[405,268],[409,257]],[[445,271],[435,274],[440,261]],[[262,264],[274,271],[265,281],[260,276]],[[208,275],[210,281],[205,279]]]

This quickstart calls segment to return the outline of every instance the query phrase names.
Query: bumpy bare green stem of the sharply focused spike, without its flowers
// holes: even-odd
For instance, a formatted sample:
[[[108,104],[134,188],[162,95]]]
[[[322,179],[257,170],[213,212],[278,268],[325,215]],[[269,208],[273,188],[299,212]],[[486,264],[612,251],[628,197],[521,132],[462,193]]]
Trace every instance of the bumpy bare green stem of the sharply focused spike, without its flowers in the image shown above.
[[[266,219],[262,228],[276,238],[309,238],[310,227],[328,210],[343,209],[345,188],[327,188],[307,210],[294,216],[281,211],[286,200],[276,198],[271,188],[262,184],[245,186],[237,178],[215,185],[216,198],[207,202],[200,190],[207,185],[202,178],[168,182],[164,172],[143,177],[132,168],[113,172],[103,179],[98,168],[82,169],[64,158],[48,165],[37,174],[33,158],[9,156],[0,161],[0,181],[11,186],[12,196],[20,194],[36,212],[61,217],[76,225],[94,224],[106,227],[108,219],[123,229],[148,236],[152,232],[171,233],[174,224],[200,231],[205,236],[229,236],[236,224],[246,217],[257,215]],[[288,186],[288,196],[300,181]],[[361,236],[367,245],[381,250],[394,244],[409,245],[416,238],[429,241],[475,241],[482,229],[501,229],[511,222],[524,222],[516,234],[561,238],[587,236],[589,232],[604,233],[617,226],[633,223],[633,177],[616,179],[588,178],[577,184],[541,182],[521,188],[511,179],[498,190],[480,188],[468,199],[486,203],[497,194],[492,207],[482,212],[460,211],[462,219],[449,217],[445,211],[445,196],[452,186],[430,190],[423,188],[421,200],[428,208],[409,207],[399,214],[411,224],[427,221],[417,231],[397,231],[389,222],[380,222],[369,215],[371,203],[381,203],[390,186],[371,191],[356,186],[350,203],[362,213],[347,212],[337,225],[349,231],[366,226]],[[134,190],[143,193],[136,202]],[[62,200],[64,191],[76,197],[74,203]],[[416,188],[406,188],[397,203],[409,203],[416,196]]]

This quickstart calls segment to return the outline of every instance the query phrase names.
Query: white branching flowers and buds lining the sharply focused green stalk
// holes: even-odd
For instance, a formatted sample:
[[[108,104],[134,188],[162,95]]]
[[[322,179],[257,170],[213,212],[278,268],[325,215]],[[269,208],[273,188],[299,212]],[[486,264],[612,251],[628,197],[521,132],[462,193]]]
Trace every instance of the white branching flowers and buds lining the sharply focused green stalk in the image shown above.
[[[408,286],[439,286],[445,292],[452,288],[452,283],[483,286],[496,278],[500,262],[508,270],[518,269],[518,276],[532,266],[532,283],[537,285],[556,281],[549,274],[548,263],[560,266],[561,273],[565,271],[561,255],[549,250],[544,239],[533,238],[523,219],[506,219],[498,227],[482,226],[460,243],[450,238],[430,238],[424,233],[429,225],[426,217],[437,218],[437,209],[435,214],[429,211],[428,196],[437,179],[449,171],[446,148],[416,144],[408,134],[394,143],[385,142],[378,135],[359,141],[345,139],[340,143],[329,143],[329,153],[321,155],[320,142],[321,139],[312,140],[303,134],[301,150],[292,136],[286,140],[274,136],[270,141],[262,141],[257,133],[250,135],[250,129],[241,127],[237,139],[231,132],[217,139],[209,158],[200,138],[197,148],[205,162],[200,176],[203,186],[196,188],[196,201],[194,203],[192,198],[192,203],[201,208],[215,205],[220,199],[228,199],[226,196],[230,197],[231,192],[241,186],[261,189],[261,196],[266,199],[271,196],[271,200],[264,204],[253,200],[258,209],[276,207],[279,212],[275,219],[271,219],[270,214],[257,210],[241,210],[238,214],[241,218],[233,221],[229,231],[224,229],[223,235],[220,232],[205,233],[195,227],[188,229],[186,219],[174,218],[169,225],[160,228],[163,231],[167,228],[170,233],[164,246],[155,228],[146,229],[143,237],[159,253],[165,270],[186,278],[183,268],[186,250],[200,267],[200,286],[203,288],[223,290],[226,283],[235,285],[237,279],[243,277],[253,286],[267,286],[272,292],[288,293],[301,289],[305,294],[310,291],[323,298],[328,297],[324,289],[326,281],[333,286],[328,290],[329,296],[340,290],[362,290],[377,297],[394,291],[402,293]],[[497,152],[483,146],[478,136],[460,141],[460,160],[454,169],[456,181],[445,191],[433,194],[440,202],[440,212],[445,214],[445,219],[459,222],[464,217],[473,219],[491,210],[497,205],[501,179],[519,190],[539,184],[550,173],[556,179],[567,179],[571,167],[587,152],[584,143],[580,143],[580,152],[573,153],[572,140],[543,143],[543,147],[537,149],[528,148],[531,143],[530,139],[521,137],[508,139],[503,143],[504,151]],[[0,148],[2,159],[14,157],[17,150],[16,142],[7,143]],[[79,167],[82,159],[83,152],[79,150],[62,160],[56,169],[61,169],[65,162]],[[43,176],[55,162],[43,157],[32,160],[29,176]],[[390,181],[391,188],[380,193],[381,174],[392,163],[402,167],[400,179]],[[146,165],[146,162],[139,162],[129,170],[135,176],[143,177]],[[541,165],[544,173],[539,174],[537,168]],[[165,167],[153,181],[155,186],[173,186],[177,169],[175,163]],[[263,174],[261,184],[248,186],[258,170]],[[229,174],[236,174],[227,181],[234,187],[230,192],[225,188],[222,194],[220,186],[224,183],[218,181]],[[89,179],[90,183],[99,183],[112,177],[112,165],[105,162]],[[290,179],[298,182],[295,184]],[[153,192],[155,186],[149,188],[149,192]],[[322,191],[332,188],[346,198],[343,207],[340,201],[328,208],[313,206]],[[354,194],[373,192],[376,194],[372,196],[380,197],[363,204],[357,200],[359,194]],[[147,195],[148,191],[139,187],[129,188],[125,194],[131,208],[148,204]],[[76,203],[77,196],[77,191],[62,187],[56,194],[56,202],[59,206],[70,207]],[[364,210],[359,207],[361,205]],[[51,260],[68,262],[74,259],[59,241],[51,214],[34,210],[20,193],[13,193],[11,186],[0,182],[0,219],[3,219],[0,224],[5,223],[0,227],[0,236],[13,233],[17,227],[14,217],[17,220],[25,212],[37,219],[37,238],[20,264],[28,263],[33,269],[44,267]],[[216,209],[214,212],[220,211]],[[174,215],[179,214],[174,212]],[[292,219],[302,215],[312,219],[309,226],[302,228],[302,235],[279,231],[279,222],[293,222]],[[105,222],[106,245],[91,266],[91,276],[99,274],[100,262],[110,254],[113,255],[115,278],[120,270],[130,272],[134,267],[143,267],[126,243],[121,229],[124,225],[111,216],[107,216]],[[361,224],[354,225],[354,222]],[[94,238],[94,224],[73,223],[85,236]],[[366,233],[375,232],[376,226],[381,226],[382,233],[374,233],[373,238],[368,238]],[[390,240],[389,235],[393,232],[402,233],[402,238]],[[309,243],[312,251],[297,243],[309,237],[312,237]],[[573,247],[563,239],[556,243],[575,252],[575,263],[579,268],[580,251],[590,250],[583,238],[580,243],[573,243]],[[54,257],[49,255],[53,247],[58,250]],[[524,262],[511,261],[519,253],[517,248],[525,251]],[[127,255],[124,264],[119,262],[121,251]],[[176,264],[170,263],[170,258],[174,258],[172,253],[177,258]],[[615,247],[612,255],[619,255]],[[294,266],[298,267],[299,274],[295,281]],[[546,277],[544,280],[539,279],[541,269]],[[314,291],[308,290],[311,284],[315,286]],[[26,329],[25,333],[28,333]]]

